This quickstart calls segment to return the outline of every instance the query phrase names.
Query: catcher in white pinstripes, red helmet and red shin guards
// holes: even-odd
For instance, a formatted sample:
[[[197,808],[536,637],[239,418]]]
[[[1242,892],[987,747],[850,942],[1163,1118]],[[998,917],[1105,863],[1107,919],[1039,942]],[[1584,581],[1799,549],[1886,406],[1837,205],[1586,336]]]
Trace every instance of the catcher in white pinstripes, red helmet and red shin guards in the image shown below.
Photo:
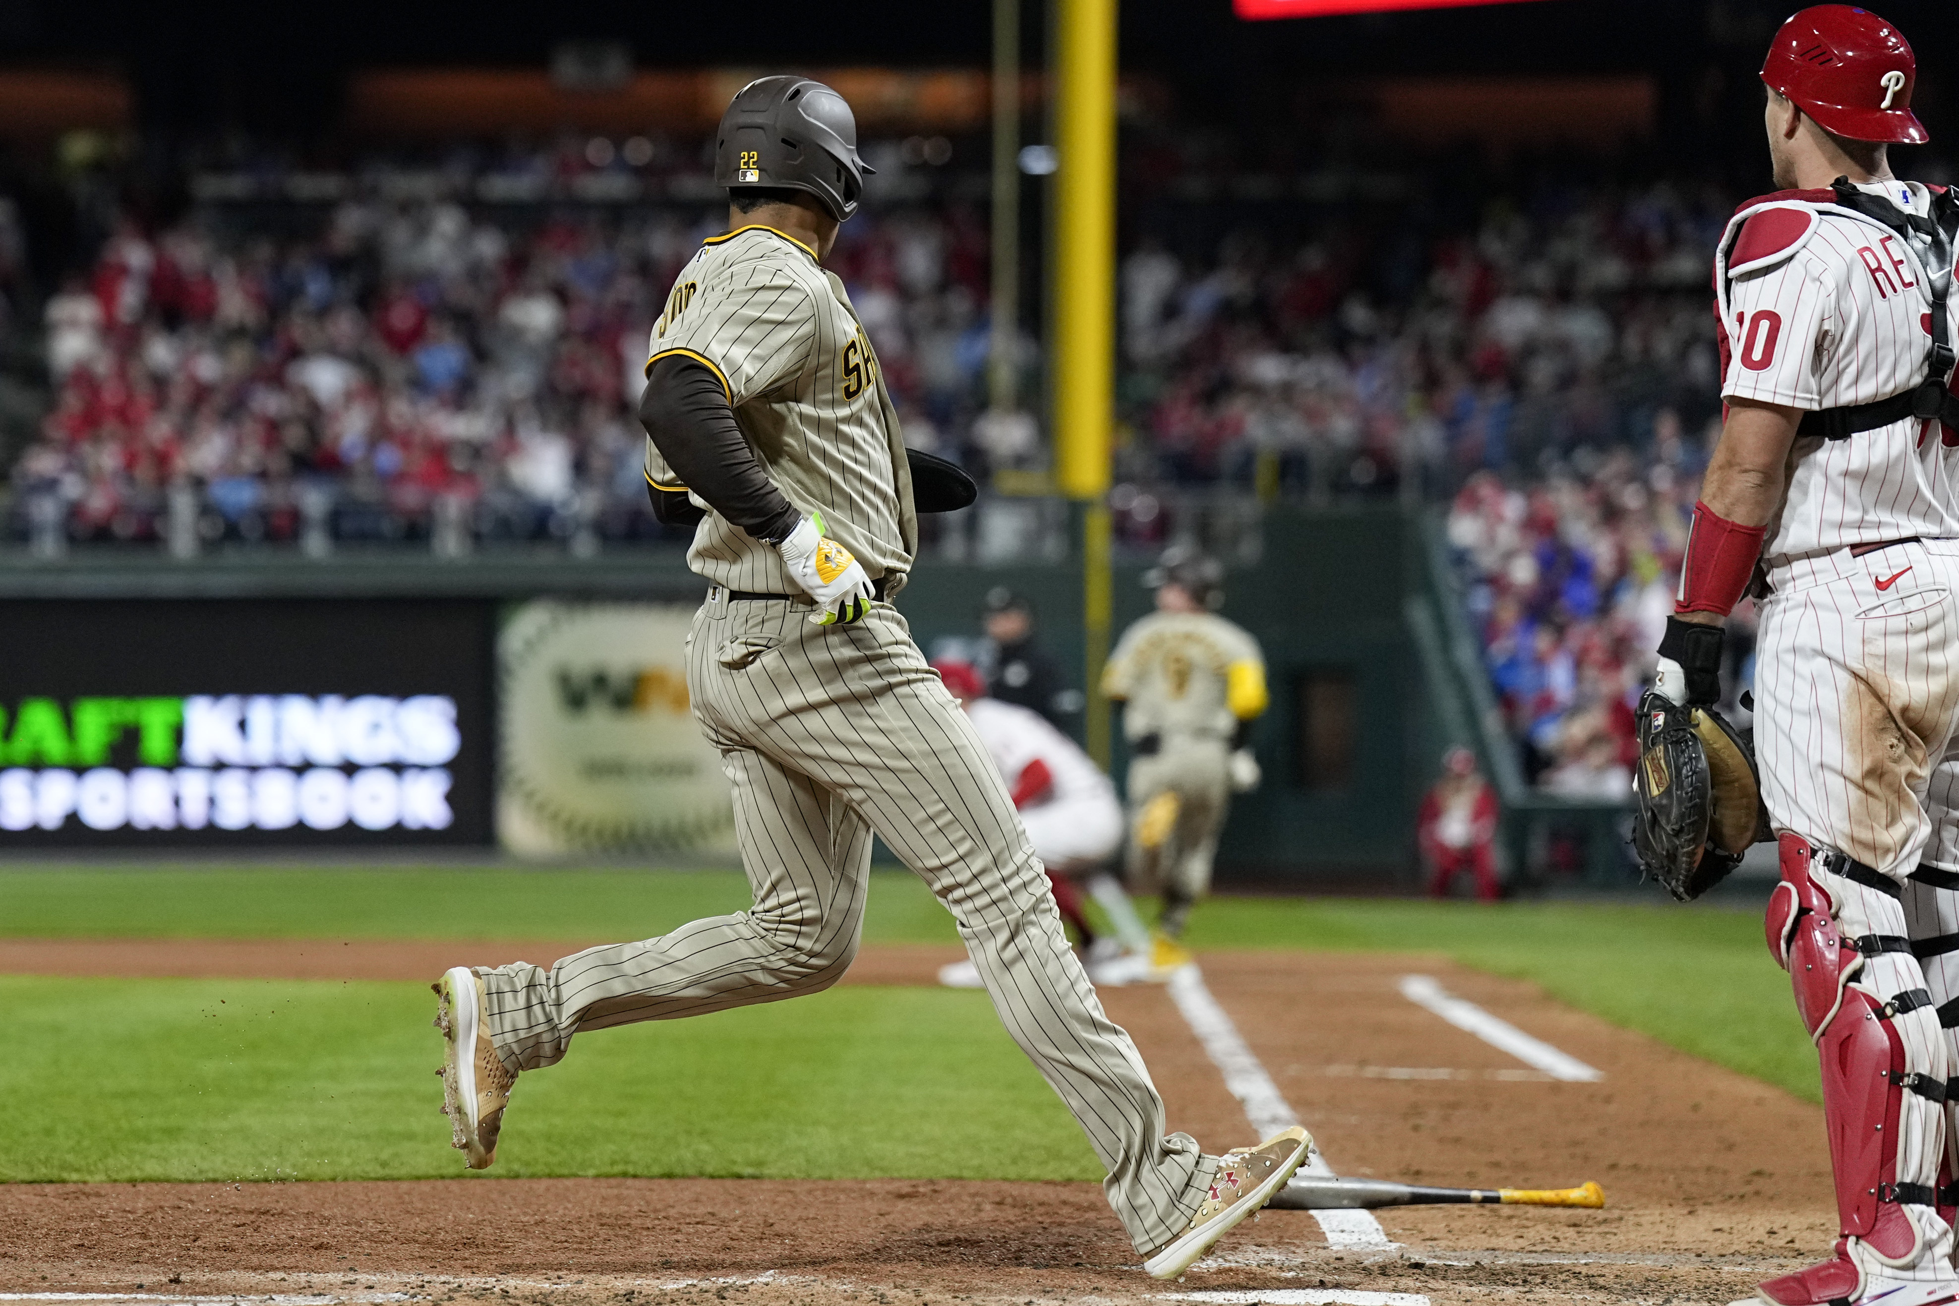
[[[1822,1057],[1841,1220],[1832,1259],[1759,1300],[1951,1302],[1959,204],[1890,172],[1885,145],[1926,131],[1912,49],[1879,16],[1802,10],[1761,78],[1785,190],[1744,204],[1716,253],[1728,415],[1655,689],[1712,711],[1722,619],[1759,556],[1767,936]],[[1669,787],[1642,771],[1642,801]]]

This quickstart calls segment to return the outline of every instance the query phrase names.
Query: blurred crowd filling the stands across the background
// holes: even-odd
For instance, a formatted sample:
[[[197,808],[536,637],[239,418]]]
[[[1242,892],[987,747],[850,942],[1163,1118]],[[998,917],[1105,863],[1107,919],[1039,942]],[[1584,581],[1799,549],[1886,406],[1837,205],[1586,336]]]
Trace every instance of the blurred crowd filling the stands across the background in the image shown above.
[[[709,178],[605,204],[607,170],[531,164],[421,194],[353,168],[337,200],[284,208],[266,196],[304,192],[304,174],[206,180],[180,221],[121,223],[45,300],[47,417],[12,466],[12,536],[666,538],[633,401],[664,288],[723,225]],[[488,202],[539,176],[523,198],[550,204]],[[1038,425],[985,413],[970,192],[868,208],[831,266],[911,443],[1038,472]],[[1536,180],[1407,233],[1338,206],[1287,239],[1134,223],[1119,544],[1154,548],[1193,495],[1452,501],[1526,775],[1620,795],[1718,411],[1706,266],[1724,211],[1675,184]],[[1021,362],[1034,394],[1032,341]]]

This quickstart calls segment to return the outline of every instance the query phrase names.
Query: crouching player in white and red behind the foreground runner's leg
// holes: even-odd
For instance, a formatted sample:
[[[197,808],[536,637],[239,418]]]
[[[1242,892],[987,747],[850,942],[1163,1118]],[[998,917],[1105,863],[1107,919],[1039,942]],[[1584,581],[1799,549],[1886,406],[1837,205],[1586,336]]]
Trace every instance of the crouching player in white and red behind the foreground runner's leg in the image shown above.
[[[1101,768],[1079,744],[1056,730],[1046,717],[1019,703],[987,695],[985,679],[970,662],[940,658],[932,670],[985,746],[1007,781],[1007,797],[1021,813],[1034,856],[1048,869],[1048,887],[1062,920],[1081,936],[1083,969],[1093,983],[1150,979],[1130,959],[1148,959],[1150,932],[1136,914],[1123,885],[1103,869],[1123,846],[1123,803]],[[1081,905],[1075,879],[1087,879],[1089,893],[1109,912],[1117,938],[1097,938]],[[1128,950],[1124,954],[1124,948]],[[1121,965],[1117,965],[1121,963]],[[1168,975],[1166,975],[1168,979]],[[938,971],[938,983],[978,989],[980,967],[954,961]]]

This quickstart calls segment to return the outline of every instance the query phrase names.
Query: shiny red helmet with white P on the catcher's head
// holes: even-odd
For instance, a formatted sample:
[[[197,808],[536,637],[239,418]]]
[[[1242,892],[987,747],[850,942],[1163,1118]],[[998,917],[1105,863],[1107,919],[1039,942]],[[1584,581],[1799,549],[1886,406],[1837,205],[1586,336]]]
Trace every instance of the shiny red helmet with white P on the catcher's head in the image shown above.
[[[1840,137],[1887,145],[1932,139],[1912,114],[1912,45],[1871,10],[1818,4],[1792,16],[1769,45],[1761,80]]]

